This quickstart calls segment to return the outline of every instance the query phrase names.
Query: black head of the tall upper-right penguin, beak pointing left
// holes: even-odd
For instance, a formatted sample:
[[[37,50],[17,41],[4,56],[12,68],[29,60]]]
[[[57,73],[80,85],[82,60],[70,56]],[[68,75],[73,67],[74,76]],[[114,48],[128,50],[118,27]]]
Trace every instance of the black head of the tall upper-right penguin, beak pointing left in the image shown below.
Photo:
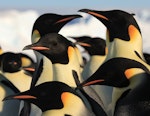
[[[140,32],[140,28],[133,17],[133,14],[122,10],[96,11],[81,9],[80,12],[91,14],[100,20],[108,29],[109,41],[119,38],[124,41],[130,41],[130,36],[134,30]],[[140,32],[141,33],[141,32]]]

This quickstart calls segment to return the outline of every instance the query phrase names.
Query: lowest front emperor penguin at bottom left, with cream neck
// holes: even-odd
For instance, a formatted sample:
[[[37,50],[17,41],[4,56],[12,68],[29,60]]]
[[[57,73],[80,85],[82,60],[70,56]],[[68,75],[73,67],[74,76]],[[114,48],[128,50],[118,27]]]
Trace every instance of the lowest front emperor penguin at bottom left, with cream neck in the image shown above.
[[[41,109],[42,116],[95,116],[73,88],[59,81],[45,82],[28,91],[10,95],[4,102],[10,99],[35,104]]]

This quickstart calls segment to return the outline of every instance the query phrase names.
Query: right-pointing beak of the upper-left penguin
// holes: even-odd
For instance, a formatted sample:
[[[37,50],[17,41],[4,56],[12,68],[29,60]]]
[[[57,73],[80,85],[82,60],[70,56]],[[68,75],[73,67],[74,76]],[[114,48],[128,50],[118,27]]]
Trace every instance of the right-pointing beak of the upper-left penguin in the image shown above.
[[[69,21],[79,18],[79,17],[82,17],[82,16],[81,15],[66,15],[62,19],[58,20],[55,24],[69,22]]]

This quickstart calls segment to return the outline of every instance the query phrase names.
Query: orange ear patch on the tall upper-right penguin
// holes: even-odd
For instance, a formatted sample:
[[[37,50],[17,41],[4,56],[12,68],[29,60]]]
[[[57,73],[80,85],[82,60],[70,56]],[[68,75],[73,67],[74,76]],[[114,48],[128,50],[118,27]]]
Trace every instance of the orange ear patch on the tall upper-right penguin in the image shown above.
[[[134,41],[135,39],[137,40],[142,38],[139,30],[134,25],[130,25],[128,27],[128,33],[129,33],[130,41]]]

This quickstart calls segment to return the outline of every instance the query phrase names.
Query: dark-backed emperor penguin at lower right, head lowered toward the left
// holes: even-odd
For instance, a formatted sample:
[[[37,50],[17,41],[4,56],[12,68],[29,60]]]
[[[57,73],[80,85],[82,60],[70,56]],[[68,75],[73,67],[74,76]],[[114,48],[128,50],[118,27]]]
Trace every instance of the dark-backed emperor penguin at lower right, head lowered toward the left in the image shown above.
[[[143,73],[137,75],[134,70],[142,70]],[[80,84],[80,87],[107,85],[122,90],[121,96],[115,102],[113,101],[112,112],[107,111],[108,115],[140,116],[150,111],[149,78],[150,71],[142,63],[116,57],[103,63],[91,77]]]

